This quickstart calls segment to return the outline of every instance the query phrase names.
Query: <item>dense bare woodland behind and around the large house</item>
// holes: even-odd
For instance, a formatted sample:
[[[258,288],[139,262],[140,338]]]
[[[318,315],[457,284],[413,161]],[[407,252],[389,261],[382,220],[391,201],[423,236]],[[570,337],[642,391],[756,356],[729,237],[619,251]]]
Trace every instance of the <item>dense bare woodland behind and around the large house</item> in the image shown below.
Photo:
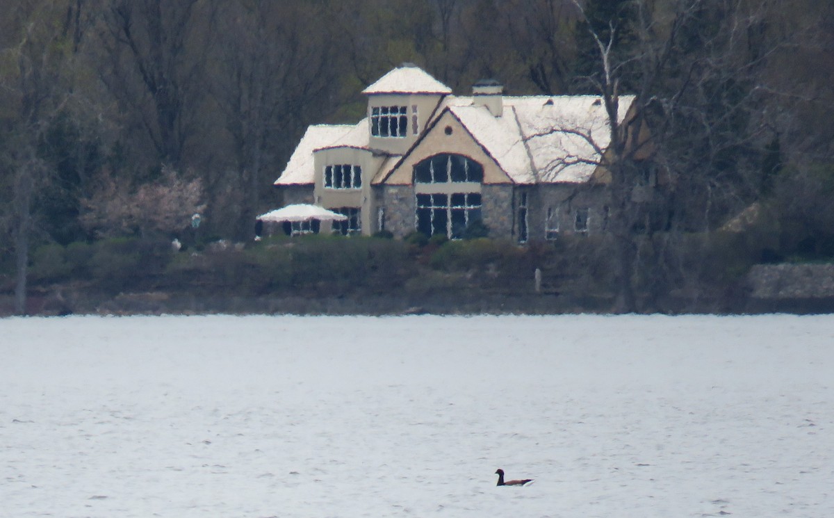
[[[831,2],[5,0],[0,274],[23,296],[43,246],[251,239],[304,128],[355,123],[404,62],[460,94],[637,96],[670,189],[612,208],[620,309],[701,279],[694,234],[834,257]],[[645,171],[621,158],[614,189]]]

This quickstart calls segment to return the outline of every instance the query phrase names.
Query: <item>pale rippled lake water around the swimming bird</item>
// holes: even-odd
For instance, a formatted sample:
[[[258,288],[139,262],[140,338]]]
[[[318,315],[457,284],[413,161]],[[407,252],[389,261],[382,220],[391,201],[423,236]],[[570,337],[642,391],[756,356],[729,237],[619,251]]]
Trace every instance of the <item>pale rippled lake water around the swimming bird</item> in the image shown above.
[[[0,319],[0,515],[827,518],[831,380],[827,315]]]

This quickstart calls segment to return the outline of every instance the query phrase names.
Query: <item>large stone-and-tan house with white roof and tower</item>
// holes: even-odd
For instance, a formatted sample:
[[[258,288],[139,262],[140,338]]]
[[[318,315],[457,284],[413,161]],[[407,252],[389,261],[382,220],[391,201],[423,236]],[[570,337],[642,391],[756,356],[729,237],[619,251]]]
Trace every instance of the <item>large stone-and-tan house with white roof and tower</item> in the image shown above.
[[[452,94],[404,64],[362,92],[367,117],[310,126],[275,185],[284,204],[345,214],[344,234],[415,230],[460,238],[557,239],[605,229],[600,152],[610,141],[600,98],[503,95],[494,80]],[[620,98],[620,121],[634,98]]]

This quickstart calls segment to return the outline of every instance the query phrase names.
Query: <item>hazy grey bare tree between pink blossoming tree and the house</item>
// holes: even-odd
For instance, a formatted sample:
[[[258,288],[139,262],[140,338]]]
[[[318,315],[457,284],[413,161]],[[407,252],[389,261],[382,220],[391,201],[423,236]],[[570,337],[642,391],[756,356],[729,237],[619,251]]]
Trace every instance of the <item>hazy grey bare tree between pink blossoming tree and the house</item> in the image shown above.
[[[254,216],[280,170],[279,160],[311,121],[329,115],[326,99],[338,95],[334,40],[326,31],[330,14],[306,3],[268,0],[224,3],[215,18],[213,48],[217,73],[210,82],[231,137],[234,174],[217,174],[209,193],[239,190],[240,206],[227,216],[232,231],[251,237]],[[221,200],[213,202],[218,205]],[[233,215],[234,214],[234,215]]]

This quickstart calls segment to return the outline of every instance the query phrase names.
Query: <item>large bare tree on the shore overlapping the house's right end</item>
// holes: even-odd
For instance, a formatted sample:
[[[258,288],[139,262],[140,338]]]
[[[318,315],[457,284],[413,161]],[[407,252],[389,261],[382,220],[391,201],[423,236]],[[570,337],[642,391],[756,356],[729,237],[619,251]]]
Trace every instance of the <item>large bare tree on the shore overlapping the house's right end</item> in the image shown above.
[[[649,0],[637,0],[636,19],[629,21],[637,43],[628,53],[616,48],[621,21],[611,20],[605,33],[587,24],[597,62],[582,79],[600,95],[609,142],[603,149],[588,132],[555,129],[574,131],[594,145],[596,165],[607,172],[615,311],[640,309],[640,244],[646,235],[654,229],[708,231],[755,194],[749,176],[757,170],[756,146],[766,142],[771,128],[756,111],[764,91],[761,67],[772,43],[751,53],[750,29],[774,5],[676,0],[654,10]],[[584,14],[581,3],[575,6]],[[633,91],[622,91],[626,83]],[[626,93],[634,101],[622,118]],[[651,138],[641,138],[646,128]],[[647,178],[661,184],[648,198],[638,195]],[[652,221],[658,214],[662,218]]]

